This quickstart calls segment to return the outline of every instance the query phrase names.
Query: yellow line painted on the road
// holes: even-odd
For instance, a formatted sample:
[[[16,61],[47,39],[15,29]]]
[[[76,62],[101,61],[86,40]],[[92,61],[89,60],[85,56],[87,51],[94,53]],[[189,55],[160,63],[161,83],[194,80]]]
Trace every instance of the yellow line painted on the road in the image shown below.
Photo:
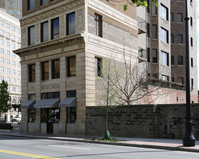
[[[27,156],[27,157],[34,157],[34,158],[41,158],[41,159],[59,159],[59,158],[54,158],[54,157],[28,154],[28,153],[22,153],[22,152],[16,152],[16,151],[8,151],[8,150],[0,150],[0,153],[7,153],[7,154],[12,154],[12,155]]]

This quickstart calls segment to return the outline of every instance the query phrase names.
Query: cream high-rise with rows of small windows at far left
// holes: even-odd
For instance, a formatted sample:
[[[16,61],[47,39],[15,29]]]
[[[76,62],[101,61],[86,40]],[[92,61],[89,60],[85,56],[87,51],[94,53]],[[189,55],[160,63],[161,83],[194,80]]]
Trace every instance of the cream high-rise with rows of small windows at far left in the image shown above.
[[[13,53],[21,47],[21,29],[19,20],[0,8],[0,82],[8,82],[11,104],[18,105],[21,100],[21,65],[20,57]],[[16,115],[11,109],[10,116]]]

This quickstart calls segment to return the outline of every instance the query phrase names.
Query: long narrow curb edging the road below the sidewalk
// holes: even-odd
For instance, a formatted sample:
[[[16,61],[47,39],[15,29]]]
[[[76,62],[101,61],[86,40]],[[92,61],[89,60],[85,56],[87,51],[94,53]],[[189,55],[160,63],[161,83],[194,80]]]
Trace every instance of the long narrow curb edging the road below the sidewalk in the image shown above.
[[[45,136],[33,136],[33,135],[23,135],[23,134],[3,134],[2,136],[13,136],[13,137],[25,137],[25,138],[35,138],[35,139],[48,139],[48,140],[60,140],[60,141],[71,141],[71,142],[86,142],[93,144],[106,144],[106,145],[115,145],[115,146],[128,146],[128,147],[140,147],[140,148],[153,148],[153,149],[162,149],[162,150],[171,150],[171,151],[186,151],[186,152],[195,152],[199,153],[199,149],[191,149],[186,147],[169,147],[169,146],[160,146],[160,145],[144,145],[144,144],[130,144],[130,143],[121,143],[121,142],[105,142],[105,141],[93,141],[86,140],[82,138],[63,138],[63,137],[45,137]]]

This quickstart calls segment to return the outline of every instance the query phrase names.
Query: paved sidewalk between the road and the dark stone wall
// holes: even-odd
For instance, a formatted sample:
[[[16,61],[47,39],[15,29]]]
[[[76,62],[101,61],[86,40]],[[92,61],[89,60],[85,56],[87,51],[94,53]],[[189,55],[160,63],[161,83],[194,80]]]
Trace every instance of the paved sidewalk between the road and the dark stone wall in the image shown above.
[[[19,134],[18,132],[0,131],[1,136],[27,137],[36,139],[50,139],[73,142],[87,142],[97,144],[111,144],[119,146],[132,146],[143,148],[166,149],[175,151],[188,151],[199,153],[199,141],[196,141],[195,147],[183,147],[182,139],[148,139],[148,138],[123,138],[115,137],[119,141],[98,141],[92,140],[88,136],[55,136],[55,135],[33,135],[33,134]]]

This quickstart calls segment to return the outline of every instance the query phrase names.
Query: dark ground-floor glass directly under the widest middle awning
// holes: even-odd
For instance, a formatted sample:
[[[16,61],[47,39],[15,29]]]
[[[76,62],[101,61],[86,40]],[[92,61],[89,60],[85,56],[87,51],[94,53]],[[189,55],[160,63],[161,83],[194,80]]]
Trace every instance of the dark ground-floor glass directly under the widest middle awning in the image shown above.
[[[60,109],[59,108],[43,108],[41,109],[41,122],[47,123],[58,123],[60,120]]]

